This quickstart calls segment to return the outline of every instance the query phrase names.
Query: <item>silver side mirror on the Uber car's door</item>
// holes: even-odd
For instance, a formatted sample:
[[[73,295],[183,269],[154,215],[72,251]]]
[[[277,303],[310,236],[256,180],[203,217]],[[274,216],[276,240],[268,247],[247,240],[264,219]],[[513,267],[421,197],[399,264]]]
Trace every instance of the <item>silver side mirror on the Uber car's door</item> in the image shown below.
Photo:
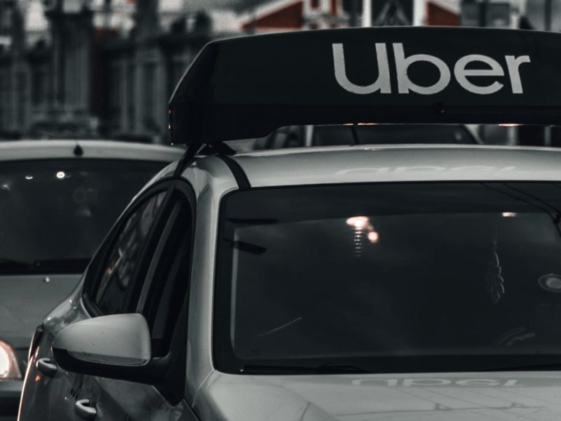
[[[148,324],[142,314],[79,321],[56,336],[53,355],[65,370],[128,380],[151,361]]]

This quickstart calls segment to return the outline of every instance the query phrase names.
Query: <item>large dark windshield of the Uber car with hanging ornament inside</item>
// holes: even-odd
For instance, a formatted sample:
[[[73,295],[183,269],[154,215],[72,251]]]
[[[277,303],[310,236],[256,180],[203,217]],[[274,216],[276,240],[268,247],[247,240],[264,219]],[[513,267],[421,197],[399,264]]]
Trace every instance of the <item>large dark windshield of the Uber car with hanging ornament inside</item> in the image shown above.
[[[560,363],[560,210],[553,182],[229,194],[217,367],[399,373]]]

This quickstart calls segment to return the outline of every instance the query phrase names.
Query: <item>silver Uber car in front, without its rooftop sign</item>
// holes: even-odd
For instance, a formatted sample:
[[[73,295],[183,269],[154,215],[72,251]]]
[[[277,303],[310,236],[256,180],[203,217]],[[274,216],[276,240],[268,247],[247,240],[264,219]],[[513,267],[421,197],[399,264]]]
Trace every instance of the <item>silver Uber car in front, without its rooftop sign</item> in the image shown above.
[[[43,321],[20,421],[556,420],[560,165],[361,146],[170,166]]]

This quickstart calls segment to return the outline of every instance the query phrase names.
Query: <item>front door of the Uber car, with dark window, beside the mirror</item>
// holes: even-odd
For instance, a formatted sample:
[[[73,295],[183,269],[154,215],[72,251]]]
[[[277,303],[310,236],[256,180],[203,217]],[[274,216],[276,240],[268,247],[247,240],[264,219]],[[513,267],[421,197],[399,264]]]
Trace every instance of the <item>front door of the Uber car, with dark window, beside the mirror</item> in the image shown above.
[[[145,276],[137,279],[136,295],[119,310],[144,315],[151,333],[152,358],[171,359],[173,373],[158,387],[135,382],[78,375],[76,411],[84,419],[96,420],[194,420],[184,401],[187,349],[187,296],[191,270],[194,227],[194,194],[187,183],[170,186],[162,215],[162,233],[153,253],[145,255]],[[109,266],[112,260],[108,260]],[[108,269],[109,269],[108,266]],[[106,269],[90,303],[101,314],[114,314],[116,307],[105,303],[103,288]],[[115,270],[115,269],[113,269]],[[108,297],[113,300],[113,295]],[[88,300],[88,298],[86,298]]]

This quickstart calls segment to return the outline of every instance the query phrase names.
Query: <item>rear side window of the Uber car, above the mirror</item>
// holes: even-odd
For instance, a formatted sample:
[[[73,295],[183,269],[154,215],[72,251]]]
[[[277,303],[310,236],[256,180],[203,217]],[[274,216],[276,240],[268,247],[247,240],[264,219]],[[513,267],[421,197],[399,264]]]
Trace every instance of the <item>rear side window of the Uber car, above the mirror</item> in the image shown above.
[[[145,201],[123,225],[121,233],[104,265],[102,278],[94,300],[103,314],[126,312],[127,303],[133,293],[135,279],[140,275],[142,255],[149,241],[165,199],[165,192]]]

